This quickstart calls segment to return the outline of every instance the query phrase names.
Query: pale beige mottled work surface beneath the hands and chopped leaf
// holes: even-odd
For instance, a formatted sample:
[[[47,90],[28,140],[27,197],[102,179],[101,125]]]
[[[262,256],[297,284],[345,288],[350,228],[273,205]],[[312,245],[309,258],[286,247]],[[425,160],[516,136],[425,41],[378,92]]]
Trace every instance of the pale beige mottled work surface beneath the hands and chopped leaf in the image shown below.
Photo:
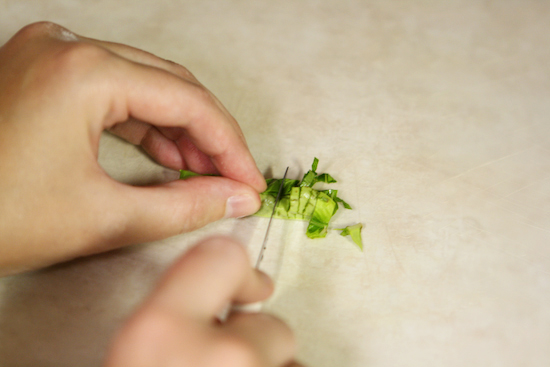
[[[0,0],[0,41],[36,20],[187,66],[262,171],[319,157],[365,249],[275,221],[265,310],[317,367],[550,365],[550,2]],[[131,184],[170,180],[106,135]],[[173,259],[213,233],[251,257],[265,220],[0,280],[0,366],[98,366]]]

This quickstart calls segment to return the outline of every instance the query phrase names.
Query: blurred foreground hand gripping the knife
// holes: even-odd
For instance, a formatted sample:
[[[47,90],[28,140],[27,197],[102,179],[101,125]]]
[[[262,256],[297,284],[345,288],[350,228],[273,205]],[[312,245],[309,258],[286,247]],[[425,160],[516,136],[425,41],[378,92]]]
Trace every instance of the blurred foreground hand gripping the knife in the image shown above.
[[[107,367],[298,367],[288,327],[264,314],[218,315],[230,302],[267,298],[270,279],[252,269],[243,248],[212,238],[167,273],[122,328]]]

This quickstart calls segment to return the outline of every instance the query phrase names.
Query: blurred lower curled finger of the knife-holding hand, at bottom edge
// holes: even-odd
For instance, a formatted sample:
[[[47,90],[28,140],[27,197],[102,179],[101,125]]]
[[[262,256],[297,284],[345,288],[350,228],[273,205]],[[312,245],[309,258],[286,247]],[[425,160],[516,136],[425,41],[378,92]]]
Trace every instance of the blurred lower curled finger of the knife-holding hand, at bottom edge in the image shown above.
[[[286,366],[296,353],[290,328],[281,320],[265,314],[233,314],[221,326],[238,335],[256,350],[266,366]]]

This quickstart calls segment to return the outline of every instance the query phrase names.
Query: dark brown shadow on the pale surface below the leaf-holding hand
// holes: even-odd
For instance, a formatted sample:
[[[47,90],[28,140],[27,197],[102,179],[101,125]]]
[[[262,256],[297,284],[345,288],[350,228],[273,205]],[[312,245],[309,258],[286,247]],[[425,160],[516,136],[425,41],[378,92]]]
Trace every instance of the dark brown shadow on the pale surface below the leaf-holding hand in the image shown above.
[[[2,279],[0,366],[100,366],[116,329],[164,269],[138,253],[116,250]]]

